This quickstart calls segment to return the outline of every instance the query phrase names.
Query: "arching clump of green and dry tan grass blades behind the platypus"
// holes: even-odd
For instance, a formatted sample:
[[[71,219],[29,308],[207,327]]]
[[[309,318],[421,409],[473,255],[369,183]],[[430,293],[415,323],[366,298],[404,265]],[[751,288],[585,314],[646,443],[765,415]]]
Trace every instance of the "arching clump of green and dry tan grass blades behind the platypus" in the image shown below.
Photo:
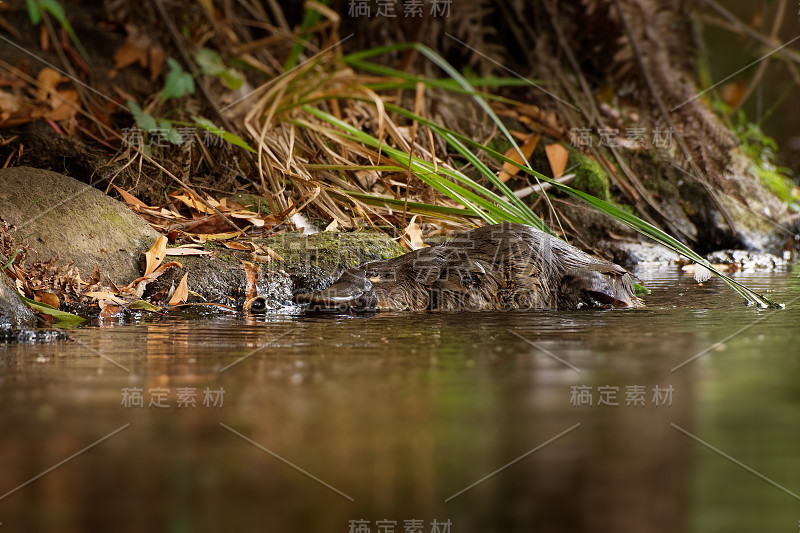
[[[409,50],[433,62],[449,79],[414,76],[370,61],[381,54]],[[674,237],[606,199],[559,183],[421,113],[430,91],[466,95],[521,156],[514,136],[488,104],[492,96],[474,88],[482,82],[486,80],[465,78],[418,43],[348,56],[331,52],[312,57],[267,87],[245,117],[245,128],[257,147],[263,189],[284,212],[306,209],[344,227],[376,219],[400,224],[415,213],[440,224],[509,221],[554,233],[498,178],[499,165],[510,163],[537,183],[549,183],[703,265],[748,302],[776,305],[717,271]],[[496,87],[504,80],[487,84]],[[411,90],[414,98],[409,107],[413,109],[408,109],[400,95]],[[456,158],[468,162],[478,177],[457,168]],[[419,201],[425,197],[430,200]]]

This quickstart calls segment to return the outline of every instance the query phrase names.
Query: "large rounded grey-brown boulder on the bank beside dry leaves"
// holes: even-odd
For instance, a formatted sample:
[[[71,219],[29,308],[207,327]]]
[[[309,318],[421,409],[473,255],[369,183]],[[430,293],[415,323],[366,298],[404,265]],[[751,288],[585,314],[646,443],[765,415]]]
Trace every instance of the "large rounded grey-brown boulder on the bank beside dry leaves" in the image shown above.
[[[28,262],[58,257],[84,278],[97,264],[103,279],[139,276],[138,255],[158,233],[125,204],[90,185],[48,170],[0,169],[0,217],[17,226]]]

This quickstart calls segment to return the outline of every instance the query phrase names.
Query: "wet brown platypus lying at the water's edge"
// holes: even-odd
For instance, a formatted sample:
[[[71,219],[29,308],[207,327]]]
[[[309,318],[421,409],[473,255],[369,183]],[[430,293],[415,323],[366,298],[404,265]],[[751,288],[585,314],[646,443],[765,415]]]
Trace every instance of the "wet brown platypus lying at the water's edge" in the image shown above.
[[[523,224],[484,226],[437,246],[345,270],[315,309],[478,311],[639,307],[622,267]]]

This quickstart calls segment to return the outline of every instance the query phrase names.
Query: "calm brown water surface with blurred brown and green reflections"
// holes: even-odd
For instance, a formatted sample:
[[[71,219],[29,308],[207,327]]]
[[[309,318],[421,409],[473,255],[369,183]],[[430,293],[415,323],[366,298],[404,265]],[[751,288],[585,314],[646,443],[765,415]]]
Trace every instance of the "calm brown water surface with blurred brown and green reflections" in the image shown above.
[[[211,316],[0,346],[2,528],[795,530],[798,306],[641,276],[632,311]],[[796,274],[742,279],[800,296]]]

